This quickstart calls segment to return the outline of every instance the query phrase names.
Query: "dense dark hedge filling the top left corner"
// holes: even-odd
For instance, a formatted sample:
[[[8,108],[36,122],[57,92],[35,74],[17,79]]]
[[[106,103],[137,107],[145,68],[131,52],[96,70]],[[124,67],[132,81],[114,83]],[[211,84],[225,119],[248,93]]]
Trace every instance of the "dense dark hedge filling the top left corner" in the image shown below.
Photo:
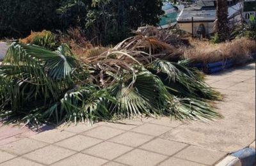
[[[21,37],[30,31],[59,27],[60,0],[4,0],[0,3],[0,38]]]

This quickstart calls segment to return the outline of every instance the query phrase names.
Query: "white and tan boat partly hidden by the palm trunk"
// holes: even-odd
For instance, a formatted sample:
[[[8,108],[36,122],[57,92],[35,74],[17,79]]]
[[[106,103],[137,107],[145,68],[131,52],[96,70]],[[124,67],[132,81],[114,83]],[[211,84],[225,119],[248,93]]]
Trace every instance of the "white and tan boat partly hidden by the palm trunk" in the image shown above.
[[[242,3],[239,0],[228,0],[228,20],[232,24],[241,22]],[[216,0],[196,0],[194,4],[185,7],[177,17],[179,29],[204,36],[214,33],[216,20]]]

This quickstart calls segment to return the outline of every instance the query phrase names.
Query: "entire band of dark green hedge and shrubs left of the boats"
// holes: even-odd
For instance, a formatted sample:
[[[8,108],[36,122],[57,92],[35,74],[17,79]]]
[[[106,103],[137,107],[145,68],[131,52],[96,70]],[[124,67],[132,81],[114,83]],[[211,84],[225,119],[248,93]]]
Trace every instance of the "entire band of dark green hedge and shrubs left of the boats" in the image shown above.
[[[4,0],[0,3],[0,38],[20,38],[31,31],[81,27],[86,38],[115,44],[132,29],[156,25],[162,0]]]

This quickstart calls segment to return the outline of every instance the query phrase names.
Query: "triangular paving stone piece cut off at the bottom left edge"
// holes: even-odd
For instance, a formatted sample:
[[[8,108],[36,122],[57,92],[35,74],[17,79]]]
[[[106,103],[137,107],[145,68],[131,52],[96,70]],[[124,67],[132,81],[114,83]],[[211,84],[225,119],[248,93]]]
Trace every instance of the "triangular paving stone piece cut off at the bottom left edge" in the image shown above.
[[[31,162],[29,160],[26,160],[25,158],[15,158],[13,160],[10,160],[8,162],[1,163],[0,166],[43,166],[40,163]]]

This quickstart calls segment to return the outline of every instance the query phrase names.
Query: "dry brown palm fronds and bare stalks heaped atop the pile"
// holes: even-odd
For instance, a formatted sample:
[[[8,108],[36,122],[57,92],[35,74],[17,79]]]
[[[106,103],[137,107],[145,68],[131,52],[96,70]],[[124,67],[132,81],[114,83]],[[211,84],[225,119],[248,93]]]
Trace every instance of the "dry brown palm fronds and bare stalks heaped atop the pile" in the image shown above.
[[[93,73],[95,83],[106,87],[120,79],[124,71],[133,75],[134,65],[147,65],[156,59],[177,61],[180,55],[175,47],[153,36],[137,35],[118,43],[113,49],[88,56],[85,61],[96,68]]]

